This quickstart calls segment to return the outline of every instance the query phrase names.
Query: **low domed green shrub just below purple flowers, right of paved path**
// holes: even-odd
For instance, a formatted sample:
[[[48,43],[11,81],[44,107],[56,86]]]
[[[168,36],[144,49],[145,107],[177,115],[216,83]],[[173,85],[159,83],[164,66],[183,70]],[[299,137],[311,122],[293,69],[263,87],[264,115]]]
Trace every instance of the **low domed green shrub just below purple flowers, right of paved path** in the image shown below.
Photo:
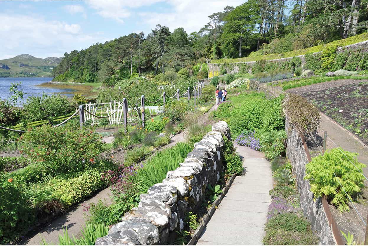
[[[307,232],[311,225],[305,218],[293,213],[282,213],[270,218],[266,224],[266,231],[283,229],[284,231]]]

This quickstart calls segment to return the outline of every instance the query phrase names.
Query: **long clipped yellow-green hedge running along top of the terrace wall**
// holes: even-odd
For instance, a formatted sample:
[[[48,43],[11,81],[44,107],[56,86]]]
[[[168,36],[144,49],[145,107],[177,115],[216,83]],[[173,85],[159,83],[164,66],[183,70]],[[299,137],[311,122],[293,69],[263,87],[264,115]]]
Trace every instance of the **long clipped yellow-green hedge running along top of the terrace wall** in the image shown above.
[[[362,33],[357,36],[349,37],[346,39],[335,40],[327,44],[321,44],[321,45],[313,46],[307,49],[293,50],[293,51],[288,51],[288,52],[280,53],[280,54],[268,54],[264,56],[248,56],[248,57],[234,58],[234,59],[211,60],[211,63],[241,63],[241,62],[247,62],[247,61],[273,60],[273,59],[279,59],[279,58],[284,58],[284,57],[294,57],[294,56],[304,55],[307,53],[320,52],[325,49],[328,49],[331,46],[336,46],[336,47],[347,46],[350,44],[363,42],[367,39],[368,39],[368,33]]]

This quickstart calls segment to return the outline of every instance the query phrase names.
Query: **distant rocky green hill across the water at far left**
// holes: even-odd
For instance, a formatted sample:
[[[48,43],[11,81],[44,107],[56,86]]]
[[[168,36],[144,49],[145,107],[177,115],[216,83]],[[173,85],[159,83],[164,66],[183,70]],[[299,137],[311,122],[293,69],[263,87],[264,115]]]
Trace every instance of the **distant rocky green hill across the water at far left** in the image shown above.
[[[60,63],[62,57],[37,58],[22,54],[0,60],[0,77],[47,77]]]

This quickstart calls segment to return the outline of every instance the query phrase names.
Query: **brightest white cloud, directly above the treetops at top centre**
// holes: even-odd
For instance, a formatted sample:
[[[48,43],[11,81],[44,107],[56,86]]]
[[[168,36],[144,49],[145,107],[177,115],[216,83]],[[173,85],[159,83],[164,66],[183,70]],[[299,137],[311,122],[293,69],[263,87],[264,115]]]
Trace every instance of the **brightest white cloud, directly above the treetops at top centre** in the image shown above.
[[[226,6],[236,7],[244,0],[235,1],[170,1],[169,13],[144,12],[140,15],[142,21],[150,26],[161,24],[168,26],[173,32],[175,28],[183,27],[189,34],[198,31],[209,22],[208,16],[223,11]]]

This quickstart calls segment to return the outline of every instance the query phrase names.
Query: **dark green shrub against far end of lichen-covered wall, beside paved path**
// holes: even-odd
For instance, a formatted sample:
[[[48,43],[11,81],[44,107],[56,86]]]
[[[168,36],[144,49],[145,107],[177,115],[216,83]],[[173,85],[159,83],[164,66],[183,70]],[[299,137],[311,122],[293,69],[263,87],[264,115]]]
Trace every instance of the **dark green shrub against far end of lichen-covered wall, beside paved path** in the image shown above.
[[[225,174],[231,176],[233,174],[243,174],[244,167],[239,155],[236,153],[233,142],[224,138],[223,157],[224,166],[226,167]]]

